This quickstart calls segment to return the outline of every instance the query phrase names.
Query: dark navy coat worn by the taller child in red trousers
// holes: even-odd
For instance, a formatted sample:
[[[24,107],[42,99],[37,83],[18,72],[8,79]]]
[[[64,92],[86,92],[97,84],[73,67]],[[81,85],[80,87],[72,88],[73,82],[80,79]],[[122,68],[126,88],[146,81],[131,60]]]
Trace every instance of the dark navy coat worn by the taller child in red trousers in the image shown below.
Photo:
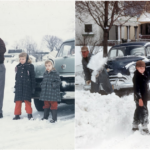
[[[34,66],[29,63],[16,66],[15,102],[27,100],[31,102],[35,90]]]

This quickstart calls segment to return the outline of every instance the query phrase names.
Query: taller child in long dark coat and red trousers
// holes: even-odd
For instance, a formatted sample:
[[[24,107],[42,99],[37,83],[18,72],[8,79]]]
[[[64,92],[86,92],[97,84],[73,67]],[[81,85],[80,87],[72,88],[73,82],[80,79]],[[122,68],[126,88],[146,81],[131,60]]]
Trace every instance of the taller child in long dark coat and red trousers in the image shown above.
[[[28,54],[19,55],[20,63],[16,66],[16,83],[15,83],[15,117],[13,120],[20,119],[21,105],[25,102],[25,110],[28,119],[32,117],[31,96],[35,91],[35,73],[34,66],[31,64]]]

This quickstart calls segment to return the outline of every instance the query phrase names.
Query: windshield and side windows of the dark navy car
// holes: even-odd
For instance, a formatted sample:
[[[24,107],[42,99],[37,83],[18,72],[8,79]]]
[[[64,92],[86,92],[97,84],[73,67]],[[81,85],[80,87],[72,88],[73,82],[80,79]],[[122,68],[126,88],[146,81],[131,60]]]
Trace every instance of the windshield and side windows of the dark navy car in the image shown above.
[[[127,46],[112,48],[109,52],[109,58],[124,57],[124,56],[145,56],[143,46]]]

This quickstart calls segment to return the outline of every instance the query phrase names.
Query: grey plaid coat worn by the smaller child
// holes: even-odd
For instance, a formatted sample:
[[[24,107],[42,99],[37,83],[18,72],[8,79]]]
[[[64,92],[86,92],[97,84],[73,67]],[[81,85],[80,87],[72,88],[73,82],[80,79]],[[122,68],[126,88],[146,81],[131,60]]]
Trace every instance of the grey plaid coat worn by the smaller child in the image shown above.
[[[46,71],[43,75],[43,81],[41,83],[41,101],[61,101],[60,97],[60,84],[61,80],[56,70],[52,70],[48,73]]]

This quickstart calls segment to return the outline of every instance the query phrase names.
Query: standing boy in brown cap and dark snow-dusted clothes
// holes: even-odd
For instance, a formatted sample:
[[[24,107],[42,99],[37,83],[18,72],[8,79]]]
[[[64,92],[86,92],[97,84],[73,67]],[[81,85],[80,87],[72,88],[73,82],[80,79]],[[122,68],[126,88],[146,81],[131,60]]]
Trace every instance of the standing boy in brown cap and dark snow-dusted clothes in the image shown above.
[[[136,71],[133,77],[134,100],[136,102],[136,109],[134,112],[133,131],[139,130],[138,125],[142,124],[142,132],[149,133],[148,125],[148,83],[149,73],[145,70],[145,62],[136,62]]]

